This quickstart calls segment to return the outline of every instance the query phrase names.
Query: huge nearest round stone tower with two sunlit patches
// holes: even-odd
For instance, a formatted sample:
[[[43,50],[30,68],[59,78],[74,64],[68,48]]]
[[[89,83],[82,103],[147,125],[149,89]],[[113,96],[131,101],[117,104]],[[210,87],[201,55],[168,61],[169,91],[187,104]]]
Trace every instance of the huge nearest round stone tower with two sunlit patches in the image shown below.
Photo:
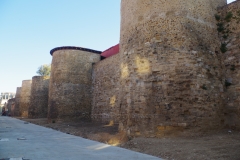
[[[121,122],[132,135],[219,127],[223,80],[214,14],[226,0],[122,0]]]

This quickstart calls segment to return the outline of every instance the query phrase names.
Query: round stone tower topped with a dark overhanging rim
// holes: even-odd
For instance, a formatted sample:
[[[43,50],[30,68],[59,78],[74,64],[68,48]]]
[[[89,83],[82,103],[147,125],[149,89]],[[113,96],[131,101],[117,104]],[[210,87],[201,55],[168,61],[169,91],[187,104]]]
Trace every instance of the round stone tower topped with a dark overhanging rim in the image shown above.
[[[48,119],[89,120],[92,99],[92,66],[100,51],[81,47],[51,50]]]

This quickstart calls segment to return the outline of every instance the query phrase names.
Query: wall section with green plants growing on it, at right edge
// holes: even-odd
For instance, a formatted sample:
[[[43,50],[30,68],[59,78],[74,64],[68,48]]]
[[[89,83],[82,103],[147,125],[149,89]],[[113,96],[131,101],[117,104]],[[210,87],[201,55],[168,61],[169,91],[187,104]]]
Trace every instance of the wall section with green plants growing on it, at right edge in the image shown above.
[[[240,129],[240,1],[220,8],[218,16],[225,64],[225,124]]]

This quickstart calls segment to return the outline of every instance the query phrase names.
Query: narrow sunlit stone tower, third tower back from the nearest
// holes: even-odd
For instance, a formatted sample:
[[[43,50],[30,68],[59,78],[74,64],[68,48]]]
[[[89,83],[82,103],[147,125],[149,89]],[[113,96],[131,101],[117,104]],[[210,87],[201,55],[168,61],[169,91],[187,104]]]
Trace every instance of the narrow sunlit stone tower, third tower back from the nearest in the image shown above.
[[[22,88],[20,94],[20,116],[21,117],[28,117],[28,107],[30,105],[30,97],[31,97],[31,80],[24,80],[22,81]]]

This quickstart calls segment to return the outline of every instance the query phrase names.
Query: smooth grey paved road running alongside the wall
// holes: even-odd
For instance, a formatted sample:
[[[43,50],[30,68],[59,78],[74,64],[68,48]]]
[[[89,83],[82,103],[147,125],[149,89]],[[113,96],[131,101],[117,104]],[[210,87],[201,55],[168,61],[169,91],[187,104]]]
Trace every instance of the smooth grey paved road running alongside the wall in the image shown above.
[[[9,158],[12,160],[160,160],[157,157],[0,116],[0,160]]]

